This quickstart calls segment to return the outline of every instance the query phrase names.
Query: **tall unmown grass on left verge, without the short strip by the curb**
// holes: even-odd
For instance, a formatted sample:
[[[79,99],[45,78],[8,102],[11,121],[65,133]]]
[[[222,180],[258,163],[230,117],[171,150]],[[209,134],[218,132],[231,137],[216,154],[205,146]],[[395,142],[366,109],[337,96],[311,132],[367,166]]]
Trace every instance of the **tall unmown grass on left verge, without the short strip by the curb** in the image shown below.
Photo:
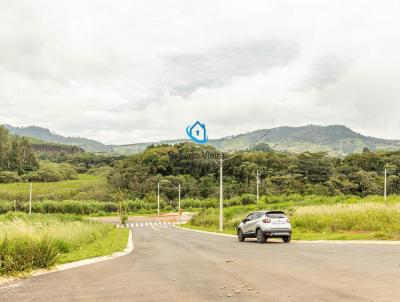
[[[0,275],[53,265],[62,253],[101,239],[112,225],[68,215],[0,216]]]

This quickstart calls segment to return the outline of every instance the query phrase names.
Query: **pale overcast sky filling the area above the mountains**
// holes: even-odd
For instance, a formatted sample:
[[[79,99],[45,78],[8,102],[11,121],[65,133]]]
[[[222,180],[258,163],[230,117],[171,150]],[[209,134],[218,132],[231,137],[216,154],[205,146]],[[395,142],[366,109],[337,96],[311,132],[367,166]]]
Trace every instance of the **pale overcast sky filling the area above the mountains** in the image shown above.
[[[400,139],[399,1],[0,0],[0,124],[104,143],[344,124]]]

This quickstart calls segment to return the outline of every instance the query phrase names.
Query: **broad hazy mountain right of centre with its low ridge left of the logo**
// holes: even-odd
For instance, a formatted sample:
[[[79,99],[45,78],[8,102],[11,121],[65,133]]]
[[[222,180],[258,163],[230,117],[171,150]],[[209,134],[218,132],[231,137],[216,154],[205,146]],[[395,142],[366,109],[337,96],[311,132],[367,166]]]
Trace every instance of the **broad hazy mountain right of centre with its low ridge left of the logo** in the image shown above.
[[[113,146],[113,150],[118,153],[135,153],[143,151],[151,144],[175,144],[183,141],[186,140]],[[365,147],[371,151],[400,149],[399,140],[365,136],[342,125],[277,127],[209,140],[208,142],[208,144],[221,151],[246,150],[259,143],[266,143],[272,149],[278,151],[296,153],[324,151],[331,155],[346,155],[361,152]]]

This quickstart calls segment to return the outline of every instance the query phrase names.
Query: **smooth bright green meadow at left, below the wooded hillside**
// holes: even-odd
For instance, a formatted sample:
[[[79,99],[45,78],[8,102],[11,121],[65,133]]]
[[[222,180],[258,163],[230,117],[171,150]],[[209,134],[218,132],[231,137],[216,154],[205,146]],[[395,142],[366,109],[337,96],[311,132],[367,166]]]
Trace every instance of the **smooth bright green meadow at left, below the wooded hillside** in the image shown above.
[[[33,183],[34,200],[102,199],[107,190],[105,177],[80,174],[77,180]],[[0,200],[29,200],[29,184],[0,184]]]

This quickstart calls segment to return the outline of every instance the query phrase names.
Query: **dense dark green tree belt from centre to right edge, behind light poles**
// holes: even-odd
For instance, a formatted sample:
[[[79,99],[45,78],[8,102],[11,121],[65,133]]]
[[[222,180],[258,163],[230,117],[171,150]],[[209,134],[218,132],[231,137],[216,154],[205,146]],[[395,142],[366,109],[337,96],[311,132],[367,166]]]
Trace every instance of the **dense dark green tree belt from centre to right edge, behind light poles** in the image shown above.
[[[166,199],[182,196],[218,196],[219,153],[211,146],[190,143],[150,146],[115,165],[108,180],[129,198],[152,194],[162,181]],[[384,169],[388,192],[400,193],[400,152],[369,152],[330,157],[326,153],[301,154],[276,151],[241,151],[224,154],[224,194],[227,198],[255,193],[260,171],[260,194],[338,194],[366,196],[383,194]]]

